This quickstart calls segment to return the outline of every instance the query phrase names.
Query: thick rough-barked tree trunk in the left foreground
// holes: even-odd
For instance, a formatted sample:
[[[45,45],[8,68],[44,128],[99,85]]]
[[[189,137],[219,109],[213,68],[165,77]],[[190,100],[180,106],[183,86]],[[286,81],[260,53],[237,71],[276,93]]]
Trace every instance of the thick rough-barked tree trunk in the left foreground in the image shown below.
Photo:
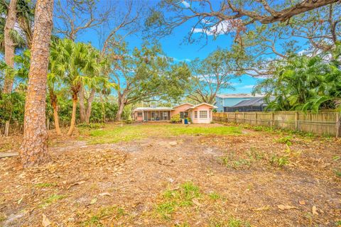
[[[23,167],[50,161],[48,132],[45,125],[45,99],[52,15],[53,0],[38,0],[26,93],[23,143],[19,148]]]

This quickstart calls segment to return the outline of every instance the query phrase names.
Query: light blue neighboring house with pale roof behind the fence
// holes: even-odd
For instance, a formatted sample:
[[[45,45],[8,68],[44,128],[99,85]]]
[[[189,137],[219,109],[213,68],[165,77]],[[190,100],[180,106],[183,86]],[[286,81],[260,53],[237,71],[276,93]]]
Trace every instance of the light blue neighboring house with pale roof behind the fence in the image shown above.
[[[239,104],[239,102],[254,98],[263,97],[262,95],[256,94],[217,94],[215,96],[215,106],[218,106],[218,112],[227,112],[227,107]]]

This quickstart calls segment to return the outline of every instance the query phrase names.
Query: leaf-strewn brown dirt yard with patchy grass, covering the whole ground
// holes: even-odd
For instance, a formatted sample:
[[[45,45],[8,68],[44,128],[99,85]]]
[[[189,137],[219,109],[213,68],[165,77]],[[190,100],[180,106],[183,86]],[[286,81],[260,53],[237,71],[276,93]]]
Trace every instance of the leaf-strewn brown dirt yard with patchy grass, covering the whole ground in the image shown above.
[[[340,139],[162,127],[51,131],[50,164],[0,159],[0,226],[341,226]]]

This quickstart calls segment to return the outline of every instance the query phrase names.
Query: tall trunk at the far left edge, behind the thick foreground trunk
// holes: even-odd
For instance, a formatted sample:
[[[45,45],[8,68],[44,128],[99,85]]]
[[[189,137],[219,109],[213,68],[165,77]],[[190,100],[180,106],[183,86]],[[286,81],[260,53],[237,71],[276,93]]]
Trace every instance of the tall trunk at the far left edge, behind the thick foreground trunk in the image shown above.
[[[9,67],[14,67],[14,52],[16,45],[11,38],[11,31],[16,24],[16,1],[11,0],[9,4],[9,11],[7,13],[5,28],[4,28],[4,44],[5,44],[5,62]],[[6,72],[4,82],[4,93],[9,94],[12,92],[13,87],[13,75]]]

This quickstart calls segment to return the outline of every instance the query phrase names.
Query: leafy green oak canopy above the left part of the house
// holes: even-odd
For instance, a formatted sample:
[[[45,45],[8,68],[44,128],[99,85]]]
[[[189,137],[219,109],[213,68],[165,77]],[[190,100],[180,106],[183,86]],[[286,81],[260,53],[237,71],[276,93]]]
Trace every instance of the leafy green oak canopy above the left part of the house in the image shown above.
[[[144,43],[141,48],[129,50],[123,43],[109,50],[114,69],[112,79],[119,85],[118,92],[126,99],[126,104],[177,101],[188,89],[188,66],[185,63],[175,64],[164,55],[161,45]]]

